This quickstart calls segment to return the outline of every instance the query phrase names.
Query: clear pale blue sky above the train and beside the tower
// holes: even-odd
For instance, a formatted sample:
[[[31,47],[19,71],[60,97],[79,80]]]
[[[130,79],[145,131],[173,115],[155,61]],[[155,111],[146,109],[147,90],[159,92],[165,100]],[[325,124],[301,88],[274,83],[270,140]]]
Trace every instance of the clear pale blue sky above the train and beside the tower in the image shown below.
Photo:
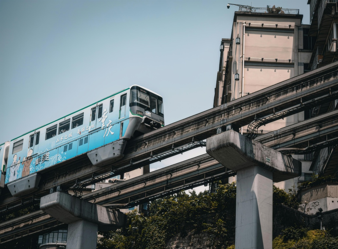
[[[0,0],[0,144],[139,84],[165,122],[212,108],[226,1]],[[307,0],[233,1],[300,9]]]

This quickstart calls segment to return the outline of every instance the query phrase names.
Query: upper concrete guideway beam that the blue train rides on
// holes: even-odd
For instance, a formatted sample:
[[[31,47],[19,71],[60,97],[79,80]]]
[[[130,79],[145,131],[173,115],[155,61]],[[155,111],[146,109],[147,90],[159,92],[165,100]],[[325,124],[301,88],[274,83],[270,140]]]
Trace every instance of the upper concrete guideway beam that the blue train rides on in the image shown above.
[[[151,154],[156,155],[172,147],[178,148],[191,143],[193,139],[202,141],[228,124],[244,126],[255,120],[255,117],[273,114],[274,110],[285,110],[296,104],[301,105],[302,102],[309,104],[310,100],[318,100],[320,96],[327,98],[328,93],[338,91],[337,69],[338,61],[132,139],[128,141],[125,156],[114,165],[95,167],[88,158],[83,157],[76,162],[41,172],[44,180],[34,194],[44,196],[50,188],[57,185],[73,186],[78,178],[89,179],[94,173],[103,174],[123,167],[127,172],[135,167],[130,164],[131,160],[139,161]],[[316,100],[312,104],[315,105]],[[126,165],[130,167],[125,167]],[[8,194],[0,200],[0,210],[21,200],[22,198],[13,198]]]

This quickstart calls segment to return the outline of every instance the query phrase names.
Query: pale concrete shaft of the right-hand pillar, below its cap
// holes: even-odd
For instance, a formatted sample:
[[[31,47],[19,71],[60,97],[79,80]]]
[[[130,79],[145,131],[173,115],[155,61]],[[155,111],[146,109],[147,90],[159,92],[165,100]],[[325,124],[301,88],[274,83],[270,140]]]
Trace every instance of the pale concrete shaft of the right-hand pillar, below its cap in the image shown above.
[[[272,248],[272,172],[238,170],[236,185],[236,248]]]

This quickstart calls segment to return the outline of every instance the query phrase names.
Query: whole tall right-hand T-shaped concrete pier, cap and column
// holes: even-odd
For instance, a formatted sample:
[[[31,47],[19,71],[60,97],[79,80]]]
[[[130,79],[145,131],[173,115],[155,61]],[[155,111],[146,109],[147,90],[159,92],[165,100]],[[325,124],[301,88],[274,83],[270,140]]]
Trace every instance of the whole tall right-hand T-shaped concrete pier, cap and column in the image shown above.
[[[272,248],[272,183],[301,175],[290,156],[229,130],[207,139],[207,153],[237,172],[236,249]]]

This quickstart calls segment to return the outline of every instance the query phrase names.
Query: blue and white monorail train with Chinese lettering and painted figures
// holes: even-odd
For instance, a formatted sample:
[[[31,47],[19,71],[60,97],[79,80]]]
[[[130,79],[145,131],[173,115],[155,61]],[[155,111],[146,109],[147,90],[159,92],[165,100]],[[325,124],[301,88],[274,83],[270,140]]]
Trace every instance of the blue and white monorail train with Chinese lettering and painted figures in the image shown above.
[[[0,188],[7,185],[13,196],[32,193],[40,171],[84,153],[93,165],[112,163],[131,137],[162,126],[162,97],[132,85],[0,145]]]

